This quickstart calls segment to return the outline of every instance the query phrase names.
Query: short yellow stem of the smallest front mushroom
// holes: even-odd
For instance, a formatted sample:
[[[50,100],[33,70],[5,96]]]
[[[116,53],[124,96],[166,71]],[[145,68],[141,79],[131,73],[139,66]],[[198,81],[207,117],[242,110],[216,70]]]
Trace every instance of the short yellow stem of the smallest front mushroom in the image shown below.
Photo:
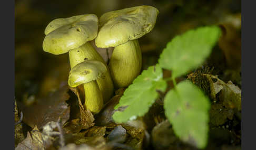
[[[102,93],[97,82],[84,83],[85,103],[84,106],[93,114],[99,113],[103,107]]]

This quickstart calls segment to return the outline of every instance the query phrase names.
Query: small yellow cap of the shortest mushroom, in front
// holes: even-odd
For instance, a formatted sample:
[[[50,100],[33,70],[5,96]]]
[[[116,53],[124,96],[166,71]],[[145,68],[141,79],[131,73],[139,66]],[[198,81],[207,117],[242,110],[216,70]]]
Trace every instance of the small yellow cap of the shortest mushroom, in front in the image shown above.
[[[71,69],[67,82],[70,87],[77,87],[80,84],[96,80],[106,71],[107,68],[101,61],[85,60]]]

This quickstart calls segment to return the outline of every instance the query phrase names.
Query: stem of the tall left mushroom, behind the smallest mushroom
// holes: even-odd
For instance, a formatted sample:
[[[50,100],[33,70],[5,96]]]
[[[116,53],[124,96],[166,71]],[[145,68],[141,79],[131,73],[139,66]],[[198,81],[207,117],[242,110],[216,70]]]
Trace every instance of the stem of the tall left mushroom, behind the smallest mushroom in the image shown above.
[[[84,45],[72,49],[68,52],[70,57],[70,66],[73,68],[78,63],[83,62],[84,60],[98,60],[104,63],[107,67],[106,62],[101,57],[101,55],[91,46],[89,42],[86,42]],[[113,82],[110,76],[109,68],[107,67],[107,71],[105,74],[102,74],[100,78],[98,78],[97,83],[103,95],[103,101],[107,102],[110,100],[113,94]]]

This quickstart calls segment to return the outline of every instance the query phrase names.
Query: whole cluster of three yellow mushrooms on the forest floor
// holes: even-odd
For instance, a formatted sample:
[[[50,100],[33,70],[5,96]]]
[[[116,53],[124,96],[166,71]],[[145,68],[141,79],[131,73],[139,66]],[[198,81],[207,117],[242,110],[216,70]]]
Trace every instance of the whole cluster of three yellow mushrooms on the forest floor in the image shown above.
[[[115,88],[127,87],[139,75],[142,55],[138,38],[149,33],[159,11],[151,6],[137,6],[103,14],[58,18],[45,29],[43,50],[54,55],[68,52],[71,71],[68,85],[83,84],[85,108],[99,113]],[[99,33],[98,33],[98,28]],[[91,46],[114,47],[109,66]]]

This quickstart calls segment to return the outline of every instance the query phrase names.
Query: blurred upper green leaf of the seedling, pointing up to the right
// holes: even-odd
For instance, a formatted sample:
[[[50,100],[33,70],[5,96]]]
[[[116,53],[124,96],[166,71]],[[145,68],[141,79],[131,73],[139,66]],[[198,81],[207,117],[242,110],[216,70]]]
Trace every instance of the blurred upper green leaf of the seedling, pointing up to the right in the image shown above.
[[[176,36],[168,42],[160,55],[162,68],[172,70],[172,76],[188,73],[203,63],[218,41],[221,30],[217,26],[200,27]]]

